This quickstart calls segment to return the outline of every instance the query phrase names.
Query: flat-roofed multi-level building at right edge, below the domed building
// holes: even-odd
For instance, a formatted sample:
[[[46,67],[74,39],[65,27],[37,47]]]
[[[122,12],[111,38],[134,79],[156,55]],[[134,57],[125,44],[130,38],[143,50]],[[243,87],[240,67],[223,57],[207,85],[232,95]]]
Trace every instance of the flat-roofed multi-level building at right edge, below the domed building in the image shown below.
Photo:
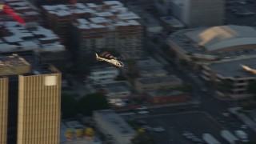
[[[202,78],[215,84],[220,97],[248,98],[254,95],[247,90],[250,82],[256,80],[254,62],[255,56],[210,62],[202,66]],[[218,87],[222,83],[225,86]]]

